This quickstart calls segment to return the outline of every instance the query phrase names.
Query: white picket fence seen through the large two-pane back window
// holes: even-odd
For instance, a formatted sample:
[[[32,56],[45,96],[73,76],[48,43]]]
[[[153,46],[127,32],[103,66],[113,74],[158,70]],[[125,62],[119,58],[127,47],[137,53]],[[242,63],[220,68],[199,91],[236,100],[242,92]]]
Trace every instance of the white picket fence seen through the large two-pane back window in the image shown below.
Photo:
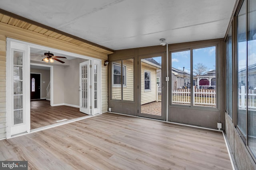
[[[216,91],[195,89],[193,86],[194,105],[216,106]],[[190,104],[190,89],[172,90],[172,103]]]

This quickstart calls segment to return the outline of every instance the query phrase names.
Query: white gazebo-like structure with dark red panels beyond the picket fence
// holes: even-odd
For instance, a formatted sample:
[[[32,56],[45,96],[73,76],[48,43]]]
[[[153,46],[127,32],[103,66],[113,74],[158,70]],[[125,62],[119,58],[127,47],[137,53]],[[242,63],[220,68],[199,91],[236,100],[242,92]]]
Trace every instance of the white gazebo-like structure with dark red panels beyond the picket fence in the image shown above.
[[[206,74],[196,76],[197,88],[215,89],[216,88],[216,70],[206,72]]]

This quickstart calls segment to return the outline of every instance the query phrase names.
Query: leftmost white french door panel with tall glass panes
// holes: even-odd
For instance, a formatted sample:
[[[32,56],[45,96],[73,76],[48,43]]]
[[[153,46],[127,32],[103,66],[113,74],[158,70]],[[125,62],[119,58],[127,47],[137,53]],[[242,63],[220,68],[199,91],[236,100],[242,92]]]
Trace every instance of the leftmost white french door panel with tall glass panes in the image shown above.
[[[25,82],[30,80],[30,57],[28,45],[7,41],[6,83],[8,87],[7,138],[30,131],[30,87]]]

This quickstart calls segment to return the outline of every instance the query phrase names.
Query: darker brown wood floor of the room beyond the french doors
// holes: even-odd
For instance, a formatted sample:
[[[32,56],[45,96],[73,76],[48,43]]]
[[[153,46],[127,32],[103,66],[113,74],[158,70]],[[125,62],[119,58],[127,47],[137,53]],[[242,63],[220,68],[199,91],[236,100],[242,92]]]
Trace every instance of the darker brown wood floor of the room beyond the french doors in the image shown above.
[[[30,127],[36,129],[47,125],[53,125],[57,120],[75,119],[87,116],[79,111],[79,108],[70,106],[50,106],[48,100],[32,100],[30,102]]]

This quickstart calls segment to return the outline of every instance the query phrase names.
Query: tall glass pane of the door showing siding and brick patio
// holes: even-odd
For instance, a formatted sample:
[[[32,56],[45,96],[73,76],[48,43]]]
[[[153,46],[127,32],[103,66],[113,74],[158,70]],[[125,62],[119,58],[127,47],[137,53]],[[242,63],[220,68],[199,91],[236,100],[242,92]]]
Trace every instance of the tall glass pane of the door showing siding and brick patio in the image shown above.
[[[162,57],[140,58],[139,116],[164,119],[162,114]]]

